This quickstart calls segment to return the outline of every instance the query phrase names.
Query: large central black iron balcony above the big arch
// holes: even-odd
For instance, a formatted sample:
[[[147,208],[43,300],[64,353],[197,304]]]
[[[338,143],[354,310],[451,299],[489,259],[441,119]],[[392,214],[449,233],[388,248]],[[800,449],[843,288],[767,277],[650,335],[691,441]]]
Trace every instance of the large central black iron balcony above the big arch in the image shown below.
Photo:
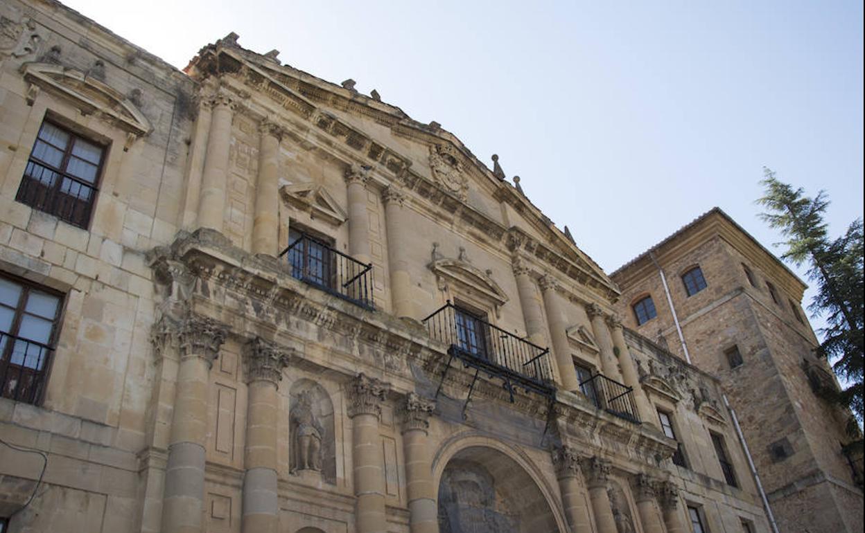
[[[511,400],[515,387],[546,397],[554,396],[548,348],[520,339],[450,301],[421,321],[432,339],[449,346],[447,352],[451,360],[445,373],[450,362],[459,359],[463,365],[475,369],[475,379],[479,372],[490,378],[501,378]],[[443,382],[444,378],[443,374]],[[469,394],[471,396],[471,389]]]

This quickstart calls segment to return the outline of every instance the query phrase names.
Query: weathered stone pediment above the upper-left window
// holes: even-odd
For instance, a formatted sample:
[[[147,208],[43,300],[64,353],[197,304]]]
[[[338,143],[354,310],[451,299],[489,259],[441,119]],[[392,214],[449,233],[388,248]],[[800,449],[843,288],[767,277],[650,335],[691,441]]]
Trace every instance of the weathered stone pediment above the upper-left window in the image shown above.
[[[147,117],[123,93],[80,70],[52,63],[25,63],[22,73],[30,83],[30,93],[35,92],[34,87],[52,92],[70,100],[83,114],[98,113],[134,136],[145,136],[152,130]]]

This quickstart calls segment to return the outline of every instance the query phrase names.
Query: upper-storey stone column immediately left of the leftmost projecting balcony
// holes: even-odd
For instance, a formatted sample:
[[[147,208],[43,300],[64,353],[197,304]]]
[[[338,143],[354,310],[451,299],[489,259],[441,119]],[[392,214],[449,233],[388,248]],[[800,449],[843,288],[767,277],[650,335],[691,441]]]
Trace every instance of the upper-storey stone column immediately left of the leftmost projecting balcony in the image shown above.
[[[264,119],[259,124],[259,177],[255,182],[253,253],[279,254],[279,140],[284,130]]]

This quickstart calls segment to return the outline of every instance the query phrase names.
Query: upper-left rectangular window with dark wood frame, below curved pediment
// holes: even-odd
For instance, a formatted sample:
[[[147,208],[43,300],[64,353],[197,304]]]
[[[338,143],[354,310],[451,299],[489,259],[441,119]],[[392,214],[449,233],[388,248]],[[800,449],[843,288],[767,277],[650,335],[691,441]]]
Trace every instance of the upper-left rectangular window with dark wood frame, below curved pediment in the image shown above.
[[[104,155],[105,147],[43,122],[15,199],[86,229]]]

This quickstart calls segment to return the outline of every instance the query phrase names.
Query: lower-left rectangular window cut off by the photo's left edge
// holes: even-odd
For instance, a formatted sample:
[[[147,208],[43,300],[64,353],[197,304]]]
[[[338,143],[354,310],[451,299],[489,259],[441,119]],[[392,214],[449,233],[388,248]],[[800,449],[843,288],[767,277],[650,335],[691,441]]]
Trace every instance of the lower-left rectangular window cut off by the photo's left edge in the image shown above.
[[[38,403],[54,348],[61,295],[0,276],[0,384],[3,397]]]

